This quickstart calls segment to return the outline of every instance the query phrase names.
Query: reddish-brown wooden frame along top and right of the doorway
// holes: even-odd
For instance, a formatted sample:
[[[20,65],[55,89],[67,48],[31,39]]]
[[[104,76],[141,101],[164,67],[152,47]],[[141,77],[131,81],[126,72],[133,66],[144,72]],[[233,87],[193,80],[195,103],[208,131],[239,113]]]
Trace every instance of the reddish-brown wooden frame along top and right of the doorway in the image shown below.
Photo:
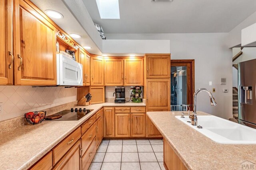
[[[172,66],[186,66],[187,67],[187,105],[193,105],[195,92],[195,60],[194,59],[171,59]],[[189,71],[190,70],[190,71]],[[193,107],[190,107],[193,110]]]

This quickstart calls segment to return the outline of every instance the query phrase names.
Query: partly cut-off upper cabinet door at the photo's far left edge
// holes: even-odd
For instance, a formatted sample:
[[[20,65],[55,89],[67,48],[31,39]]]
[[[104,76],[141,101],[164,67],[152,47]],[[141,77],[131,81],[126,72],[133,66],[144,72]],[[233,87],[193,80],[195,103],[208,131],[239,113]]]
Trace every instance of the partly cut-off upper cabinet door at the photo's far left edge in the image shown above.
[[[12,85],[12,0],[0,1],[0,18],[0,85]]]

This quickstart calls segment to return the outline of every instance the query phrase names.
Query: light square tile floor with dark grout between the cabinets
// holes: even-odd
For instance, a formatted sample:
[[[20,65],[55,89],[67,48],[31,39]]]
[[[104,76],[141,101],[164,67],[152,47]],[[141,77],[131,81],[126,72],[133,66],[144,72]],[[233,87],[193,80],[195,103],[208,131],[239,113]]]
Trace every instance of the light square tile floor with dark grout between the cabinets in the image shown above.
[[[163,140],[102,140],[89,170],[165,170]]]

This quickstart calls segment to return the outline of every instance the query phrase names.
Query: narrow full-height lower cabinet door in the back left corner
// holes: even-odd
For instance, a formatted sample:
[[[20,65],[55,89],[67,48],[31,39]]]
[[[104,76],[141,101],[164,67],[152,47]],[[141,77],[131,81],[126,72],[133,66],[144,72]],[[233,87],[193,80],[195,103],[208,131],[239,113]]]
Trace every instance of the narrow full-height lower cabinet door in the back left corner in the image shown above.
[[[104,108],[104,137],[115,137],[115,108]]]

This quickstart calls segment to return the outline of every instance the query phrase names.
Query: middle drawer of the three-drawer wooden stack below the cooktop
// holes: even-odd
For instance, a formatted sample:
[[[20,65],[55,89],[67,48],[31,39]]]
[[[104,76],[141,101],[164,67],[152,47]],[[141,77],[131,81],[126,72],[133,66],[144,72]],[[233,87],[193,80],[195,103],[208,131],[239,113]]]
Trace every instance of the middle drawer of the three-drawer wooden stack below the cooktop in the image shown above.
[[[96,123],[94,123],[81,137],[82,139],[82,155],[90,146],[92,140],[96,136]]]

